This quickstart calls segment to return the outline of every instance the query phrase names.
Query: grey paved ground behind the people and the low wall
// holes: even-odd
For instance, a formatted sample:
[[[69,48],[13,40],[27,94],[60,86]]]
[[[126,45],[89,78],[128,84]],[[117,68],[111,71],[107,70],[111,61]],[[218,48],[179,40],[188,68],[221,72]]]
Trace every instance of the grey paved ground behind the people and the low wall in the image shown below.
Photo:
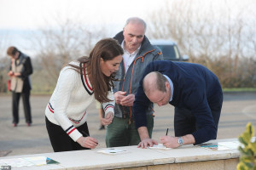
[[[44,110],[49,96],[31,97],[32,127],[26,127],[22,102],[20,102],[20,124],[12,127],[11,97],[0,95],[0,156],[18,156],[52,152],[44,122]],[[90,135],[99,140],[99,147],[106,147],[105,130],[99,131],[98,113],[95,105],[91,105],[88,125]],[[218,127],[218,139],[237,138],[252,122],[256,128],[256,93],[224,94],[223,111]],[[166,105],[155,108],[153,138],[159,139],[173,134],[173,107]]]

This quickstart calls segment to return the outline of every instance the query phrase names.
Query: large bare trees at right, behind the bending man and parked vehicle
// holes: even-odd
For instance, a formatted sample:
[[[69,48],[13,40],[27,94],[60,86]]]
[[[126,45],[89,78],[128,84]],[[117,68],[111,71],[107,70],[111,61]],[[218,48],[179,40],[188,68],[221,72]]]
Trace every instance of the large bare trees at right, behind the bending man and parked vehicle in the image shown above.
[[[245,20],[248,6],[231,15],[232,8],[226,1],[221,2],[223,5],[208,2],[204,7],[195,3],[200,2],[166,1],[165,8],[148,15],[148,37],[174,39],[182,53],[189,54],[191,62],[206,65],[218,75],[224,87],[245,87],[241,81],[248,82],[246,79],[252,75],[247,72],[253,74],[256,67],[255,51],[252,55],[245,50],[256,48],[255,25]],[[255,18],[256,14],[250,16]]]

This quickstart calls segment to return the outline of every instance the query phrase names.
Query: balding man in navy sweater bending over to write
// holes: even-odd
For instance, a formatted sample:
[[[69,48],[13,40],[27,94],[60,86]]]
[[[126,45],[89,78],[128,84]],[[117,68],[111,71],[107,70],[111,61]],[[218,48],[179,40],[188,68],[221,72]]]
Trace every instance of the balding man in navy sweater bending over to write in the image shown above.
[[[154,61],[147,66],[133,105],[141,138],[138,147],[142,148],[158,144],[148,136],[145,111],[150,102],[175,107],[175,137],[160,137],[166,147],[201,144],[217,138],[223,92],[218,77],[205,66],[172,61]]]

